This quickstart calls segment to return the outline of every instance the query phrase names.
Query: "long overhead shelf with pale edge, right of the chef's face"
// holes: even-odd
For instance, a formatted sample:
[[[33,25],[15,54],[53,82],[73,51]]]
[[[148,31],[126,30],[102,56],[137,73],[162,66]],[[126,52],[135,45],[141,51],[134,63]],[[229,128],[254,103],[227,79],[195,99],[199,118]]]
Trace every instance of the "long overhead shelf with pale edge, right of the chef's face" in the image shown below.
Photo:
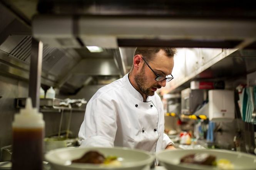
[[[207,63],[185,77],[175,78],[165,89],[168,93],[179,93],[190,87],[191,81],[220,81],[239,78],[256,71],[256,50],[224,49]]]

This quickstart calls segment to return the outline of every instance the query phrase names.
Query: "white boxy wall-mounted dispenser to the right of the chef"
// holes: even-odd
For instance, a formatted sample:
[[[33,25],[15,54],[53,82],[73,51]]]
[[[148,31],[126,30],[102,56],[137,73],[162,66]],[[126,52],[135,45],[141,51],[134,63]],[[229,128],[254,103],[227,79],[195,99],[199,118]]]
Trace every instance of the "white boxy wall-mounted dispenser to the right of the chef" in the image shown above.
[[[209,120],[232,121],[235,118],[234,91],[209,90]]]

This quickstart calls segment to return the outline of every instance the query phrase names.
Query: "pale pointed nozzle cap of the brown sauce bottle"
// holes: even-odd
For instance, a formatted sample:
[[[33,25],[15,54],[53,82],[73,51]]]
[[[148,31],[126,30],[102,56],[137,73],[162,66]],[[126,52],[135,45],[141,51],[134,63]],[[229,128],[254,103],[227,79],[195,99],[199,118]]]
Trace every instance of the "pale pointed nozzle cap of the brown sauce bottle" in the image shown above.
[[[43,114],[32,107],[30,97],[26,100],[25,108],[15,114],[13,127],[44,127]]]

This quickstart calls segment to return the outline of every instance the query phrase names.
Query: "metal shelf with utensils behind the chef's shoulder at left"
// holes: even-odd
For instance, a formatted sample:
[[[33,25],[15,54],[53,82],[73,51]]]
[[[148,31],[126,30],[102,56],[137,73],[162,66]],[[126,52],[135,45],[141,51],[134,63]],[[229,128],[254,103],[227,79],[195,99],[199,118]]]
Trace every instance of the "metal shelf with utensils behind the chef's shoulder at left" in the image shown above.
[[[15,107],[17,109],[24,108],[27,98],[16,98]],[[72,99],[70,99],[72,101]],[[66,99],[40,99],[40,111],[41,112],[61,112],[62,110],[72,111],[85,111],[86,101],[81,102],[79,106],[75,105],[77,102],[69,102]]]

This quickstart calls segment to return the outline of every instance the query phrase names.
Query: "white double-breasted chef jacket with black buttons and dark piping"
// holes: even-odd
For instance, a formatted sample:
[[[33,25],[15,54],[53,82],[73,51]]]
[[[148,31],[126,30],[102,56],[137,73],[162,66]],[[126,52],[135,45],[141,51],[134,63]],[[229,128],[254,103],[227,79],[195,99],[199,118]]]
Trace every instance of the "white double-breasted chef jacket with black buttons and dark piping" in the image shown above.
[[[164,110],[155,93],[143,102],[128,74],[100,88],[87,103],[81,147],[129,147],[157,152],[173,144],[164,134]]]

